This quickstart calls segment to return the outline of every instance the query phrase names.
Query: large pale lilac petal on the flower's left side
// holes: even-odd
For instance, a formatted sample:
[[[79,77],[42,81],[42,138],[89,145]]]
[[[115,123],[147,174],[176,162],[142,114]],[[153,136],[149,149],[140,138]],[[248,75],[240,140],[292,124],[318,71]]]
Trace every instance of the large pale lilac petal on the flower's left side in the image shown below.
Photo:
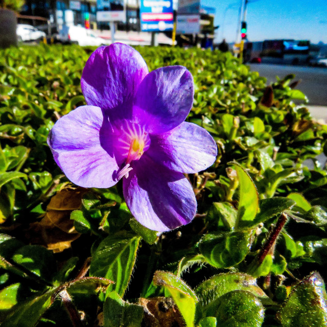
[[[102,110],[79,107],[58,120],[48,136],[55,161],[69,180],[84,188],[108,188],[119,170],[110,153],[110,124]]]

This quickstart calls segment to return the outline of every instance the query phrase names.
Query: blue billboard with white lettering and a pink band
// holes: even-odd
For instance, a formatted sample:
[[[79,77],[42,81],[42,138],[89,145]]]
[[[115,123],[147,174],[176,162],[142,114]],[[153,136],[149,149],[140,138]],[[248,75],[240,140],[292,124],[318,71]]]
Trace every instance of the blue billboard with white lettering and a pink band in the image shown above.
[[[173,0],[141,0],[140,16],[144,32],[172,31]]]

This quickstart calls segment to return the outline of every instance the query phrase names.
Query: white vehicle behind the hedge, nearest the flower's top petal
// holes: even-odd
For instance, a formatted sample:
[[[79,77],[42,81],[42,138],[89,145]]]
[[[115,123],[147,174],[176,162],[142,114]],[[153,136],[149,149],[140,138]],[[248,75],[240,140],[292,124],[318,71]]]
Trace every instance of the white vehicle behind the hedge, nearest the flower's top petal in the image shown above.
[[[75,43],[79,45],[105,45],[107,41],[82,26],[64,25],[59,31],[58,38],[62,43]]]

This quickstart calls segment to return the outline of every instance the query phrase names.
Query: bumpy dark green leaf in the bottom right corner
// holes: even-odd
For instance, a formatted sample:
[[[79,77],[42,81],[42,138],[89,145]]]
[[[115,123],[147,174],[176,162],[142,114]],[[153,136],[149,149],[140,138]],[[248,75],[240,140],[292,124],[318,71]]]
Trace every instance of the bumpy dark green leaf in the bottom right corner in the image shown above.
[[[284,327],[327,324],[327,294],[318,272],[299,282],[278,315]]]

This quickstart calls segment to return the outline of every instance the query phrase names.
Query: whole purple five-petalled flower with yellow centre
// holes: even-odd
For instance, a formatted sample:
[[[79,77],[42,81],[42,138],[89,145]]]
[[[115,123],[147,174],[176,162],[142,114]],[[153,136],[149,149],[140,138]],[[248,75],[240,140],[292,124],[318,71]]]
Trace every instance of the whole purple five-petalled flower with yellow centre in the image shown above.
[[[91,54],[83,70],[86,106],[63,116],[48,137],[67,178],[84,188],[123,179],[126,203],[144,226],[166,231],[188,224],[196,199],[183,173],[211,166],[212,136],[184,122],[193,78],[182,66],[148,72],[141,55],[114,43]]]

